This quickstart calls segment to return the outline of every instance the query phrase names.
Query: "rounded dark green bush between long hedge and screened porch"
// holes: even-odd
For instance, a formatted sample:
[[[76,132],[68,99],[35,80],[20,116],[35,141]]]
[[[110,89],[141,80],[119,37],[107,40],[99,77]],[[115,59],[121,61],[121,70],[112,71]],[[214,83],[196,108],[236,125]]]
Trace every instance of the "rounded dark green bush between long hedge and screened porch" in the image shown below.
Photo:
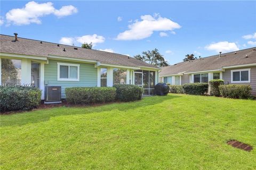
[[[140,100],[143,88],[132,84],[116,84],[116,99],[120,101]]]

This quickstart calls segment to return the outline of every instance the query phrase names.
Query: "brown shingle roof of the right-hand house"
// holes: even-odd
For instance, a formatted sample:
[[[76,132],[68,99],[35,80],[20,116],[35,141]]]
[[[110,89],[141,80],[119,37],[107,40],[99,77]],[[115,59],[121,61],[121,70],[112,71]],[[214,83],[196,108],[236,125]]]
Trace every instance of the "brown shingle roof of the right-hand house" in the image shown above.
[[[247,57],[246,57],[247,55]],[[207,70],[218,70],[225,66],[235,66],[256,63],[255,47],[238,50],[236,52],[224,53],[204,57],[199,60],[181,62],[163,67],[159,75],[172,75],[179,73],[200,72]]]

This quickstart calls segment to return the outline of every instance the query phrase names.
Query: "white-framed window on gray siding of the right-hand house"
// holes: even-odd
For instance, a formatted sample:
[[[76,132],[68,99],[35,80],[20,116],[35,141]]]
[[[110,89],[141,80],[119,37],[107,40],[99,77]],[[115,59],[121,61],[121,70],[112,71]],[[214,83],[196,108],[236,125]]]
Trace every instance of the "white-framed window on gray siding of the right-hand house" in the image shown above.
[[[251,69],[231,70],[231,83],[250,83]]]

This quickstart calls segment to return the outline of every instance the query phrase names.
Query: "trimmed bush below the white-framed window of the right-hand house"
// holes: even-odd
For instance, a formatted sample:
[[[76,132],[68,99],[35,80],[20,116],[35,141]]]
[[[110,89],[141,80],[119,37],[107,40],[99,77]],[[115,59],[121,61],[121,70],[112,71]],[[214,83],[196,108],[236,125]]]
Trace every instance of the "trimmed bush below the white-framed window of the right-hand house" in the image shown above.
[[[222,97],[235,99],[248,99],[251,96],[250,85],[227,84],[220,85],[220,94]]]

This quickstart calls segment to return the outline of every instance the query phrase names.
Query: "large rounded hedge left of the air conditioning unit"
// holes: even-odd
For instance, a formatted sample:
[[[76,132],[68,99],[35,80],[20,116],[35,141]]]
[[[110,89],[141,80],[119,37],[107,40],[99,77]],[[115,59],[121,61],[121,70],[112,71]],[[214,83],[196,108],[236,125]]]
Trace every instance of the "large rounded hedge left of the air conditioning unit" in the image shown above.
[[[1,87],[1,112],[33,109],[40,105],[41,95],[35,87]]]

